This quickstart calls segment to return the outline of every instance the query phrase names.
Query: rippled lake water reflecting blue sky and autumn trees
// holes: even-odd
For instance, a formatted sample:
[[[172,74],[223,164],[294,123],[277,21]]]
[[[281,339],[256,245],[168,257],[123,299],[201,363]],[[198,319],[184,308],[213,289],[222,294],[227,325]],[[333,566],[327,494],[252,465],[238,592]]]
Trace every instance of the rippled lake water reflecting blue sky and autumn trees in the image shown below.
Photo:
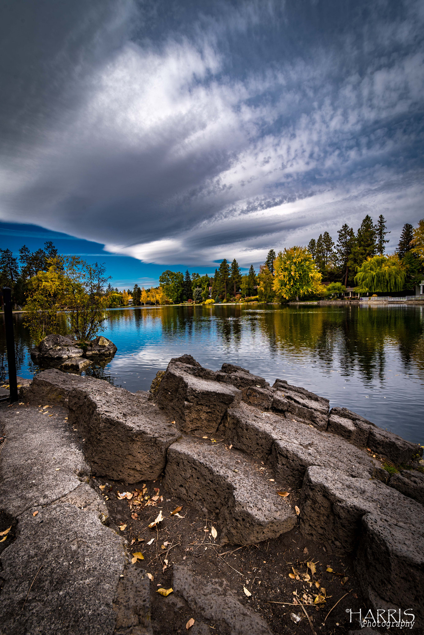
[[[3,320],[3,316],[1,318]],[[38,369],[29,333],[15,314],[21,377]],[[405,439],[424,443],[424,307],[146,307],[108,312],[104,335],[118,352],[104,370],[114,385],[148,390],[172,357],[190,353],[216,370],[249,368],[327,397]],[[7,377],[4,327],[2,378]]]

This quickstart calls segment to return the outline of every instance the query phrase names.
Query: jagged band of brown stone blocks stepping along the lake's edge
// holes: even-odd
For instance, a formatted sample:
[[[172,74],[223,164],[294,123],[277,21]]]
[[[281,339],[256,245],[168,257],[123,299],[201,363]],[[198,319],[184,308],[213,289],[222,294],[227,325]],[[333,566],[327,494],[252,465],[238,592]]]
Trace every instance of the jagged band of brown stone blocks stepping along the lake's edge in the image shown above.
[[[86,467],[79,469],[80,478],[89,474],[95,481],[135,484],[136,497],[141,491],[137,484],[142,487],[142,481],[160,479],[170,500],[181,500],[193,512],[197,510],[200,518],[213,521],[216,544],[228,545],[230,551],[243,545],[261,549],[267,543],[269,547],[295,532],[308,544],[320,545],[327,558],[352,560],[367,609],[409,609],[415,616],[414,626],[424,626],[424,474],[420,445],[345,408],[330,410],[327,399],[285,380],[277,379],[271,387],[239,366],[224,363],[221,370],[212,371],[189,355],[172,359],[167,370],[158,373],[151,392],[130,393],[104,380],[51,369],[36,376],[30,386],[22,387],[20,398],[22,406],[27,404],[25,408],[49,404],[67,413],[67,425],[73,431],[69,434],[77,432],[81,457],[84,455]],[[41,410],[37,412],[41,420],[37,425],[42,430],[46,416]],[[4,413],[2,423],[7,423]],[[87,487],[86,496],[90,493]],[[106,480],[102,487],[106,487]],[[101,510],[102,514],[96,516],[100,531],[107,522],[107,514],[99,506],[105,501],[100,498],[96,502],[99,492],[91,491],[95,498],[87,505],[98,505]],[[153,498],[147,494],[130,509],[154,511],[149,507]],[[106,500],[109,505],[109,497]],[[45,503],[40,499],[39,504]],[[6,513],[10,518],[18,516],[13,504],[6,505]],[[116,534],[111,532],[115,544],[113,536]],[[12,542],[11,548],[17,542]],[[128,551],[128,541],[122,548]],[[186,552],[189,550],[187,547]],[[134,634],[168,632],[165,627],[152,631],[149,625],[149,578],[142,568],[137,567],[139,573],[134,573],[136,569],[125,565],[124,557],[122,562],[123,568],[129,566],[128,571],[132,571],[129,574],[125,569],[125,584],[142,587],[147,597],[144,617],[137,617],[139,630]],[[193,582],[193,571],[178,566],[172,584],[180,584],[180,578],[186,580],[181,583],[181,589],[186,589],[181,595],[189,597],[194,591],[188,589],[200,582]],[[134,575],[137,580],[131,578]],[[6,577],[4,606],[11,614],[16,589],[13,591],[11,584],[8,591],[10,571],[5,570],[2,576]],[[291,576],[295,581],[306,580],[297,572]],[[308,578],[312,585],[313,575],[312,580]],[[115,600],[107,600],[112,604],[116,604],[123,584],[116,587],[120,578],[115,575],[114,579],[115,591],[108,597]],[[290,577],[285,579],[291,582]],[[320,588],[318,581],[315,587],[315,591]],[[229,597],[227,592],[224,595]],[[306,606],[313,606],[311,597],[312,605]],[[317,591],[318,605],[320,597],[325,602]],[[293,606],[301,603],[295,598]],[[121,601],[124,612],[129,610],[125,606],[125,600]],[[115,618],[116,610],[111,613]],[[203,613],[207,619],[207,608]],[[264,620],[257,621],[256,613],[248,611],[245,619],[250,624],[247,631],[222,622],[218,631],[196,630],[200,628],[196,626],[191,632],[271,632]],[[109,632],[103,628],[102,632]],[[132,631],[119,632],[129,635]],[[274,627],[272,632],[280,631]],[[1,627],[0,633],[3,635]]]

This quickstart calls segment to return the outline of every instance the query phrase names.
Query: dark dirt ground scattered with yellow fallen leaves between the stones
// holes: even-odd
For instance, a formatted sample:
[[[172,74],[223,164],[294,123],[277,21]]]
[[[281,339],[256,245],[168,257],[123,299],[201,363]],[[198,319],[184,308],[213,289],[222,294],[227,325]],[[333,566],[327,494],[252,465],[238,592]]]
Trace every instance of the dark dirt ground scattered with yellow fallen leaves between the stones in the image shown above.
[[[140,552],[144,557],[130,566],[145,569],[153,576],[151,612],[155,634],[186,632],[186,622],[191,617],[209,624],[211,633],[222,632],[219,625],[196,616],[184,601],[175,596],[170,601],[172,594],[163,598],[156,592],[160,587],[172,586],[174,563],[188,565],[205,580],[225,578],[238,600],[259,613],[275,634],[329,635],[359,628],[358,622],[353,621],[355,616],[350,622],[350,612],[346,613],[349,609],[353,613],[366,608],[352,559],[336,558],[324,547],[304,540],[297,528],[270,542],[221,547],[219,534],[216,539],[213,537],[212,528],[218,529],[215,519],[168,495],[161,480],[127,486],[103,478],[92,482],[106,501],[109,525],[125,536],[132,554]],[[118,498],[118,493],[120,497],[126,493],[129,500]],[[292,507],[297,504],[298,495],[299,491],[292,490],[287,497]],[[172,515],[178,507],[182,509]],[[149,528],[160,512],[163,521]],[[293,613],[301,618],[299,622],[293,621]]]

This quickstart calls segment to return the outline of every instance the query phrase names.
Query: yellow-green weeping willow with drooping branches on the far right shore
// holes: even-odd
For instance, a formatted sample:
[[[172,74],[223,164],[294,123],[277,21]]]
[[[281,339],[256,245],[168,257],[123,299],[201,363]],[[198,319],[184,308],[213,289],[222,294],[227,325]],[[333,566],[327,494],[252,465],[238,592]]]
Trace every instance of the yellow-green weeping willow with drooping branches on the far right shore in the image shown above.
[[[392,256],[374,256],[358,267],[355,283],[358,293],[371,291],[385,293],[402,291],[406,280],[406,271],[395,253]]]

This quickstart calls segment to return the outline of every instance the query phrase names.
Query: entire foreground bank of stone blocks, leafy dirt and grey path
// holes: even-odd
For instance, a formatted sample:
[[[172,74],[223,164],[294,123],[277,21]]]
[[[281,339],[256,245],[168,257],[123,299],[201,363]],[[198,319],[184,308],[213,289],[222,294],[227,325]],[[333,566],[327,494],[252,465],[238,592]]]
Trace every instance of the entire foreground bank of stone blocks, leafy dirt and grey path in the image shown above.
[[[140,632],[164,635],[175,628],[184,632],[190,618],[197,623],[192,632],[199,633],[211,628],[240,635],[303,634],[311,625],[330,633],[336,624],[348,632],[358,625],[346,610],[359,612],[364,602],[372,610],[390,605],[403,611],[412,605],[416,623],[423,621],[422,579],[416,576],[424,538],[419,446],[345,409],[330,411],[327,400],[302,388],[282,380],[271,388],[231,364],[211,371],[184,356],[171,361],[155,389],[154,394],[130,393],[102,380],[51,370],[22,390],[21,403],[0,409],[6,524],[15,527],[19,521],[18,531],[5,534],[6,618],[20,608],[37,573],[35,561],[25,564],[31,540],[31,549],[42,556],[41,587],[34,584],[28,595],[29,613],[20,613],[23,625],[29,624],[27,615],[49,624],[55,613],[52,624],[60,619],[65,624],[60,632],[84,632],[88,624],[90,632],[100,632],[92,601],[99,575],[111,589],[102,593],[102,611],[109,616],[106,625],[102,622],[104,633],[121,624],[119,610],[135,615],[143,628],[149,628],[151,615],[152,630]],[[69,467],[62,457],[71,456]],[[418,469],[402,471],[400,464]],[[74,484],[70,469],[92,486],[87,492],[94,498],[77,504],[79,511],[69,496],[81,481]],[[12,478],[23,471],[38,485],[29,485],[24,474]],[[55,479],[63,484],[63,494],[58,495]],[[56,506],[58,499],[65,507]],[[90,505],[100,510],[93,512],[101,514],[96,521]],[[44,522],[43,514],[47,525],[34,525],[35,533],[31,525],[22,533],[19,528],[29,518]],[[69,547],[66,542],[71,528],[50,544],[55,523],[72,514],[83,518],[78,559],[69,551],[72,541]],[[107,515],[110,527],[104,531]],[[88,519],[95,522],[94,533],[85,529]],[[93,550],[91,537],[99,531],[104,546]],[[365,551],[357,548],[358,535]],[[78,536],[76,529],[77,542]],[[117,540],[123,555],[116,556],[113,570],[100,573],[95,558],[108,562]],[[25,566],[15,573],[21,557]],[[64,559],[67,566],[58,566]],[[81,565],[75,570],[74,563],[87,559],[93,584],[88,595],[75,596],[71,581]],[[62,575],[62,594],[50,596],[44,587],[54,566]],[[156,584],[174,591],[163,598]],[[133,598],[148,586],[134,608]],[[83,609],[87,603],[92,617]],[[73,623],[81,610],[80,630],[67,630],[71,606]],[[121,627],[116,632],[129,635]]]

